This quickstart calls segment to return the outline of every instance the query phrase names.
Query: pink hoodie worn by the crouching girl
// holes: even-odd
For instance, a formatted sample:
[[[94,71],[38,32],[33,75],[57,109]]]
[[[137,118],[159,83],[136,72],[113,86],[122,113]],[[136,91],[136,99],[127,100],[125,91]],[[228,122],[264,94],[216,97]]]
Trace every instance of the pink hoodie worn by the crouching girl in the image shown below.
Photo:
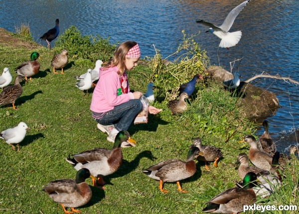
[[[100,68],[99,81],[93,91],[90,105],[90,110],[93,112],[107,112],[112,110],[114,106],[134,99],[130,88],[127,94],[118,95],[121,88],[121,80],[117,72],[117,67],[111,67],[107,70],[103,70],[103,67]],[[129,84],[129,82],[127,82],[127,84]]]

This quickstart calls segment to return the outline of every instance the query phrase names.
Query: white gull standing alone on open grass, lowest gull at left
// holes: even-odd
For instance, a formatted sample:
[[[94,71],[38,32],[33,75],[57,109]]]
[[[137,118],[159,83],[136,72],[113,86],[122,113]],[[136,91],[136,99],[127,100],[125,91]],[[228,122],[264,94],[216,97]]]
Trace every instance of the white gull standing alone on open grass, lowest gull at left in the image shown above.
[[[29,129],[26,123],[20,122],[16,127],[6,129],[0,133],[0,139],[5,140],[5,142],[15,150],[12,144],[16,144],[17,152],[19,152],[19,143],[24,140],[26,135],[26,130]]]

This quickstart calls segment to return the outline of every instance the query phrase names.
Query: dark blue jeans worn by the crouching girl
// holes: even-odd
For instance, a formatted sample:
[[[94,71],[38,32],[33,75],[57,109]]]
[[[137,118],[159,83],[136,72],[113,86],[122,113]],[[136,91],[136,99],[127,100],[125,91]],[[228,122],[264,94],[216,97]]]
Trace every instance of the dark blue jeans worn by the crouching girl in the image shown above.
[[[114,124],[114,128],[118,131],[127,131],[141,110],[142,102],[140,99],[133,99],[115,106],[114,109],[106,112],[103,118],[96,119],[96,121],[104,126]]]

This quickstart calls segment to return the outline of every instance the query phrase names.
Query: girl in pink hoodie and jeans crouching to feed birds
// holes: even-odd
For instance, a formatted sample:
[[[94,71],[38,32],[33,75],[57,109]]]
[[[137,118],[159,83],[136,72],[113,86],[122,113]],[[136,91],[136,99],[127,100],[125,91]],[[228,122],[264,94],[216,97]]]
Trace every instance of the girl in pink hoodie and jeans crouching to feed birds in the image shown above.
[[[128,130],[136,115],[142,110],[143,95],[140,91],[130,92],[126,71],[131,71],[139,61],[141,52],[137,42],[125,41],[115,50],[108,64],[100,68],[99,81],[94,89],[90,110],[98,122],[97,127],[114,139],[122,130]],[[149,106],[150,114],[161,109]]]

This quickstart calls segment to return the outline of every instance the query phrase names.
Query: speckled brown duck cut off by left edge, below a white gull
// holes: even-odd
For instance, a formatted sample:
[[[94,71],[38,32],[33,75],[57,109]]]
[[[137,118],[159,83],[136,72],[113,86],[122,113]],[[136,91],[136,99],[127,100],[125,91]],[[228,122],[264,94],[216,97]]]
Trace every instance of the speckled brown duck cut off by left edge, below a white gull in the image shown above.
[[[12,104],[12,108],[16,109],[14,102],[22,94],[23,89],[20,82],[24,80],[22,76],[16,76],[14,79],[14,85],[8,85],[3,88],[0,94],[0,105]]]

